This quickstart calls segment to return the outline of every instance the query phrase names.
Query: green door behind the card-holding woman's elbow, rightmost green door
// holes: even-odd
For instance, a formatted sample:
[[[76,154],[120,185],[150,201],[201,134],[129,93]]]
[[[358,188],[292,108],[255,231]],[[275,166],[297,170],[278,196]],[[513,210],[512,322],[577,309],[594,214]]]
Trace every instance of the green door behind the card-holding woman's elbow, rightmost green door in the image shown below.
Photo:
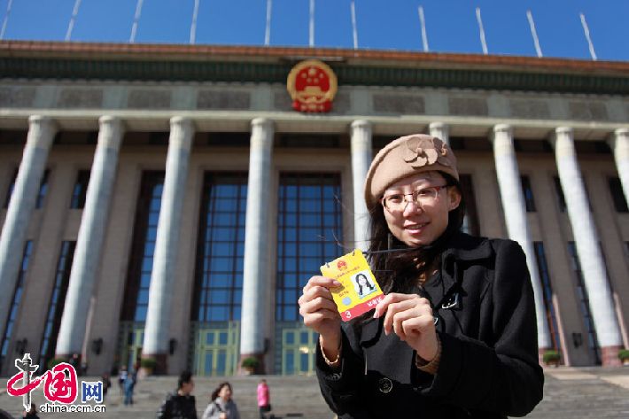
[[[306,327],[282,330],[282,375],[314,375],[317,334]]]

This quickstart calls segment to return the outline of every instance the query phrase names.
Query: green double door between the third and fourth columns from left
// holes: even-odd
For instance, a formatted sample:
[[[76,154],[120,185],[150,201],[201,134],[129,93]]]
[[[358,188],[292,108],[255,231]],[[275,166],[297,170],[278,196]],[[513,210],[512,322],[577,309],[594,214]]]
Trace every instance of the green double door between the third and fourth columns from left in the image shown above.
[[[233,376],[238,367],[240,322],[198,323],[194,329],[195,374]]]

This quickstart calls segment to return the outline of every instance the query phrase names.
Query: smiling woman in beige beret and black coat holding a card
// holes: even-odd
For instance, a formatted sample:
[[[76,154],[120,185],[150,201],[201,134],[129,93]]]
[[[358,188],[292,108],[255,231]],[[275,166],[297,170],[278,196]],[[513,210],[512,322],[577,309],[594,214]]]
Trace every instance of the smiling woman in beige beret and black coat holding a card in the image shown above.
[[[316,369],[341,418],[504,418],[542,398],[532,286],[513,241],[463,234],[456,159],[438,138],[400,137],[369,167],[370,264],[386,297],[343,323],[313,276],[299,298],[319,333]]]

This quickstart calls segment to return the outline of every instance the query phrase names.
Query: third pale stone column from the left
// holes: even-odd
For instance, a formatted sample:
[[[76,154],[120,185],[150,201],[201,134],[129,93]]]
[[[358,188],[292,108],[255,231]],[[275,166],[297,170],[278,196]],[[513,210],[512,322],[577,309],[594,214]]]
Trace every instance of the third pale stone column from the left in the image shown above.
[[[159,207],[142,348],[143,358],[158,361],[158,373],[164,373],[167,369],[171,300],[175,292],[179,230],[193,134],[191,120],[181,117],[170,120],[166,177]]]

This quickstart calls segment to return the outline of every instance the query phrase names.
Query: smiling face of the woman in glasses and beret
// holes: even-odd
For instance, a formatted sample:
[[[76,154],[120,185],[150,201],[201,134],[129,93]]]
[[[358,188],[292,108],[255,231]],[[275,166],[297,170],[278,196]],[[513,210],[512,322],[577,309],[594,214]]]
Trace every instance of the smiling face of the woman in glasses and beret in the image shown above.
[[[456,188],[442,188],[430,204],[418,206],[408,194],[434,186],[445,186],[446,179],[439,172],[423,172],[392,183],[384,190],[384,198],[395,194],[407,195],[403,211],[384,210],[384,218],[392,235],[411,247],[434,242],[447,229],[448,212],[461,202]]]

